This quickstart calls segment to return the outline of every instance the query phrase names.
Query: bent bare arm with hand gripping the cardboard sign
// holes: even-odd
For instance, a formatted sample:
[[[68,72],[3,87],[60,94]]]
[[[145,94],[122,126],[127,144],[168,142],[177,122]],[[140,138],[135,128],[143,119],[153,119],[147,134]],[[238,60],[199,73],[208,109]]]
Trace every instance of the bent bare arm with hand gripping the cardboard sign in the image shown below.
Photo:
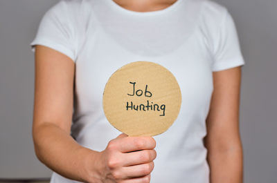
[[[101,152],[84,148],[71,137],[74,70],[66,55],[36,46],[33,141],[38,159],[80,182],[149,182],[156,158],[152,137],[122,134]]]

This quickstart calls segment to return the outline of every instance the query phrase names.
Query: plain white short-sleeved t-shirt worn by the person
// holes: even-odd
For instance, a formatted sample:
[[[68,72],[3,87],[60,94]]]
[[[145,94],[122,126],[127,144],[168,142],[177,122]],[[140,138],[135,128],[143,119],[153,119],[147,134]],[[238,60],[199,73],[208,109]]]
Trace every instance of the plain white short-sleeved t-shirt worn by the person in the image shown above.
[[[152,12],[127,10],[112,0],[64,0],[44,15],[31,43],[48,46],[76,65],[72,136],[102,151],[120,134],[107,121],[102,93],[114,71],[153,61],[175,75],[182,94],[179,116],[157,141],[152,183],[208,183],[206,116],[213,72],[244,65],[228,10],[207,0],[178,0]],[[34,50],[34,48],[33,48]],[[75,182],[53,173],[51,183]]]

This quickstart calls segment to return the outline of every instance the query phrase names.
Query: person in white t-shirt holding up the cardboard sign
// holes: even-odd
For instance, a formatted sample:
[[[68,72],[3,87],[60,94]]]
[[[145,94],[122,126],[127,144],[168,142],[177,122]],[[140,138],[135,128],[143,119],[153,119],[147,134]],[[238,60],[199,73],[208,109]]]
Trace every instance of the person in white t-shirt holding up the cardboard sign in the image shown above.
[[[229,10],[208,0],[63,0],[42,18],[35,51],[33,142],[51,183],[241,183],[244,58]],[[154,137],[105,118],[112,73],[152,61],[175,75],[182,102]]]

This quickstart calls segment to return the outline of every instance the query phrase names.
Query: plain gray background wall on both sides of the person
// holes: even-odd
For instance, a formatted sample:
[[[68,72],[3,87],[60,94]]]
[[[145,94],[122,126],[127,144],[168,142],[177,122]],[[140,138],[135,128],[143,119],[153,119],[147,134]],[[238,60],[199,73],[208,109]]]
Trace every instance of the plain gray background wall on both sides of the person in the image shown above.
[[[237,26],[242,54],[244,182],[277,182],[277,1],[216,0]],[[31,137],[34,57],[29,44],[57,0],[0,0],[0,178],[49,177]]]

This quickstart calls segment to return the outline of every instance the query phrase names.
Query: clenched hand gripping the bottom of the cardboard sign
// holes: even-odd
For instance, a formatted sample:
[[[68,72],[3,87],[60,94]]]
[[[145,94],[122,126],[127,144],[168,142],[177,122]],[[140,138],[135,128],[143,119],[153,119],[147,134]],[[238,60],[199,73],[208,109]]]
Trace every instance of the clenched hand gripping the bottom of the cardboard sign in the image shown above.
[[[136,183],[150,182],[157,153],[153,137],[128,137],[124,133],[112,139],[104,151],[102,159],[102,182]]]

